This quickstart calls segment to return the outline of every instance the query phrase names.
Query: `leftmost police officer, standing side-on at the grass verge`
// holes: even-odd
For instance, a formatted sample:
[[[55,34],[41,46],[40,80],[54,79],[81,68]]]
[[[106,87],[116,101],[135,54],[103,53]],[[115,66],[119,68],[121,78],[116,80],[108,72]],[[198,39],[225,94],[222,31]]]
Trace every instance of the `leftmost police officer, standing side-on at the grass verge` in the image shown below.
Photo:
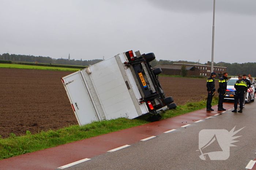
[[[208,96],[207,96],[207,103],[206,103],[206,110],[207,111],[214,111],[212,108],[211,108],[211,101],[212,101],[212,97],[214,96],[215,94],[215,76],[217,74],[215,72],[212,72],[211,73],[211,76],[207,79],[207,84],[206,84],[206,87],[207,87],[207,91],[208,91]]]

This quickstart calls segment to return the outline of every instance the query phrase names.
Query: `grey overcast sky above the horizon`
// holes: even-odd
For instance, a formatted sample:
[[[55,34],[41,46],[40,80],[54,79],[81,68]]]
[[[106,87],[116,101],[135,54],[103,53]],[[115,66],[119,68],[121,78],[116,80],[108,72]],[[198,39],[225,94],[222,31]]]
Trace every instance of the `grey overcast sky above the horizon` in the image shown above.
[[[75,60],[125,51],[211,61],[214,0],[0,0],[0,54]],[[214,62],[256,62],[256,0],[216,0]]]

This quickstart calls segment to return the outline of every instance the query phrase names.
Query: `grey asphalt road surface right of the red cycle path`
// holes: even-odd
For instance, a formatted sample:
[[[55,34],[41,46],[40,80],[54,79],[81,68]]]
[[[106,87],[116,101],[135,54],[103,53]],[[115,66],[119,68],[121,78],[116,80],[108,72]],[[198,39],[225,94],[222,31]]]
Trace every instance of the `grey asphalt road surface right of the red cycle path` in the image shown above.
[[[245,105],[243,113],[227,110],[147,141],[92,157],[65,170],[245,170],[256,157],[255,107],[256,103],[252,102]],[[241,130],[232,134],[234,127],[234,131]],[[232,143],[236,146],[230,146],[232,136],[241,136],[233,139],[238,141]],[[210,141],[213,142],[204,148]],[[199,147],[202,153],[209,153],[204,157],[206,160],[199,157],[202,154]],[[211,157],[213,152],[217,153],[215,157]]]

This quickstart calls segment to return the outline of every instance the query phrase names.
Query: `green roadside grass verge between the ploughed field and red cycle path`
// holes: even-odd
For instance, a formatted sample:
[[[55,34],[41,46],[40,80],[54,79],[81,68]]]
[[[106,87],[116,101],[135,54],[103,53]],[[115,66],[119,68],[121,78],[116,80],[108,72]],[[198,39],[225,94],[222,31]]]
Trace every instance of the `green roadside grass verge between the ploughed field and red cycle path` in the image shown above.
[[[212,105],[217,103],[218,98],[214,97]],[[200,102],[187,103],[183,106],[178,106],[176,109],[168,110],[161,115],[162,119],[167,119],[205,107],[206,99]],[[63,129],[56,131],[41,131],[37,134],[31,134],[30,131],[27,131],[27,135],[20,137],[11,134],[9,138],[0,138],[0,160],[147,124],[150,123],[147,121],[149,116],[149,114],[145,114],[135,119],[118,118],[114,120],[105,120],[102,122],[93,122],[84,126],[76,125],[64,127]]]

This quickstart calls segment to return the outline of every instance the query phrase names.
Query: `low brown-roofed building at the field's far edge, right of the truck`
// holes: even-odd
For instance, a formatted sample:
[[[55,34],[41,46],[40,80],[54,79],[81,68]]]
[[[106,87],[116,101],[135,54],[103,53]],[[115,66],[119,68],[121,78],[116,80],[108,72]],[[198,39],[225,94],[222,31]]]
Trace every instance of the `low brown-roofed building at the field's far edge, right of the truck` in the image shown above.
[[[181,66],[159,64],[154,68],[161,68],[162,74],[165,75],[181,75]],[[188,76],[200,75],[200,70],[195,66],[186,66],[186,69],[188,70]]]

